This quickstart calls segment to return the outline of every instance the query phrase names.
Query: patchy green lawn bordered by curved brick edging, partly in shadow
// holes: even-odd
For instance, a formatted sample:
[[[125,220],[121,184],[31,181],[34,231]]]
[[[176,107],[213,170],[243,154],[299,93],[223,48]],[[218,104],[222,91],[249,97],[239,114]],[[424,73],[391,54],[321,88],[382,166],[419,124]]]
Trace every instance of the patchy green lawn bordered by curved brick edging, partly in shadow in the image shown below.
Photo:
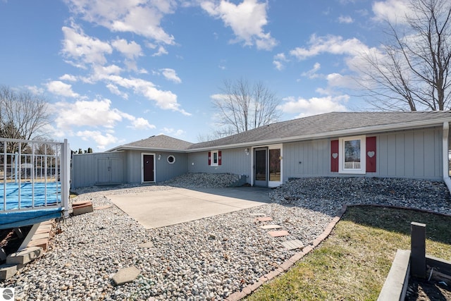
[[[377,300],[396,250],[410,249],[412,221],[426,223],[426,253],[450,260],[450,216],[350,207],[319,247],[246,300]]]

